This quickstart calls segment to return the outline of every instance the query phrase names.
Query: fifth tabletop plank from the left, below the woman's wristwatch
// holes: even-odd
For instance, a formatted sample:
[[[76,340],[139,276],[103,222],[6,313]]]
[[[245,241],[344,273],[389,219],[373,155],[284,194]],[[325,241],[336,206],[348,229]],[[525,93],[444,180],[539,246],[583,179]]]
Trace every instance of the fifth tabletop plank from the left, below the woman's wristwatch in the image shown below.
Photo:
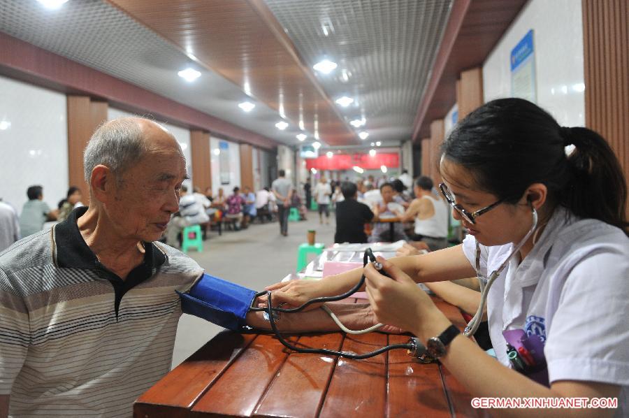
[[[408,336],[389,336],[389,344],[405,344]],[[405,350],[389,351],[387,417],[450,417],[439,366],[419,363]]]

